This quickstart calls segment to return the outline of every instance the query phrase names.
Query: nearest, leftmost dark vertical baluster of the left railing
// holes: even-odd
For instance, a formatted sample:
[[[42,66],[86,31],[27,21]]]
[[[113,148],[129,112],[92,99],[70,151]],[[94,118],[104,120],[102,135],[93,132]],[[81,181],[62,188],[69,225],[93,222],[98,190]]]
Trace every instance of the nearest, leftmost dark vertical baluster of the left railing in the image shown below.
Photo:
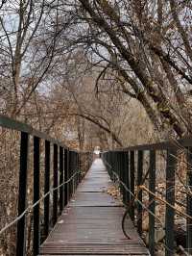
[[[26,208],[27,193],[27,169],[28,169],[28,143],[29,135],[21,132],[20,139],[20,170],[19,170],[19,188],[18,188],[18,216],[20,216]],[[25,216],[17,222],[16,237],[16,256],[25,255]]]

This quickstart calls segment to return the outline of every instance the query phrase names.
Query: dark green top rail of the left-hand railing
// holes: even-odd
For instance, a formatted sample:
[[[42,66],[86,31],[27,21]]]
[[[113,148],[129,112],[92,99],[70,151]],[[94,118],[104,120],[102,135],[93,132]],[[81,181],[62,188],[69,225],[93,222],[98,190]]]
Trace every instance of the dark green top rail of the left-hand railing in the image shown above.
[[[12,118],[5,116],[5,115],[0,115],[0,127],[12,129],[12,130],[15,130],[18,132],[24,132],[24,133],[30,134],[32,136],[36,136],[45,141],[50,141],[53,144],[58,144],[61,147],[70,149],[61,141],[58,141],[45,133],[37,131],[31,125],[20,122],[20,121],[13,120]],[[73,150],[73,151],[76,151],[76,150]]]

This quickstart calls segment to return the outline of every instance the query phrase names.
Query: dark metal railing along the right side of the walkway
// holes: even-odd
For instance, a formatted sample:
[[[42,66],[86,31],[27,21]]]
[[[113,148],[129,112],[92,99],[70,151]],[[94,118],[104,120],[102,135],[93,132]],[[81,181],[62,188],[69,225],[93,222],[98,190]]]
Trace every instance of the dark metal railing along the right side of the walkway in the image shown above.
[[[175,175],[177,167],[177,152],[182,149],[186,154],[187,179],[185,184],[186,206],[185,213],[177,211],[175,204]],[[166,141],[156,144],[145,144],[128,148],[111,150],[102,153],[102,158],[107,166],[111,180],[120,181],[120,191],[123,202],[128,207],[130,218],[137,226],[137,231],[142,235],[142,215],[146,210],[143,203],[143,192],[148,192],[149,215],[149,250],[155,255],[155,224],[156,224],[156,155],[157,152],[165,154],[165,255],[174,255],[175,247],[175,215],[186,218],[186,250],[192,254],[192,139],[180,141]],[[147,153],[147,154],[146,154]],[[148,169],[144,173],[144,156],[148,159]],[[147,182],[146,182],[147,180]],[[147,186],[144,186],[144,182]],[[184,188],[184,187],[183,187]],[[135,219],[136,216],[136,219]],[[136,220],[136,221],[135,221]],[[129,236],[127,236],[129,237]]]

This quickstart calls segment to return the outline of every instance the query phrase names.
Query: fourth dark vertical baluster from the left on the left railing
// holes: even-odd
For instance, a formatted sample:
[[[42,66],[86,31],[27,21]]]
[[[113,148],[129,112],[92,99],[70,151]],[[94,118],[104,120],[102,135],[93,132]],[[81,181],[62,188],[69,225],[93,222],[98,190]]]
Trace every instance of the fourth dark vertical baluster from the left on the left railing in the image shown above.
[[[54,144],[54,186],[58,187],[58,145]],[[56,224],[58,219],[58,190],[53,192],[53,225]]]

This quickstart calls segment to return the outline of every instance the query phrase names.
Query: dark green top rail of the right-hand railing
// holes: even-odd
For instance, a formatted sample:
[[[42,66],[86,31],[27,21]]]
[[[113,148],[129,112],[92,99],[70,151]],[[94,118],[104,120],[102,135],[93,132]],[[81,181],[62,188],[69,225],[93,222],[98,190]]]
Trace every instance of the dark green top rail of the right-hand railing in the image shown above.
[[[139,144],[139,145],[133,145],[133,146],[124,147],[124,148],[115,148],[112,150],[106,150],[103,153],[108,151],[120,152],[120,151],[133,151],[133,150],[167,150],[169,148],[183,149],[188,146],[192,146],[192,137],[187,137],[180,140],[162,141],[159,143]]]

